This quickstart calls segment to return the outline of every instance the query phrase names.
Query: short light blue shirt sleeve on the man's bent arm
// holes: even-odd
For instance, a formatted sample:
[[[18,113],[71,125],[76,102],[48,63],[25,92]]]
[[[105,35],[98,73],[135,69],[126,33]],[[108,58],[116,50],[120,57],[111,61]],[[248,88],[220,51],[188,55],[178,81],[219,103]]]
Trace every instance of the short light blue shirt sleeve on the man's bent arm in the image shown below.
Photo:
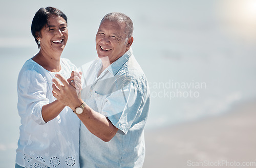
[[[138,118],[143,93],[139,92],[133,82],[106,97],[102,113],[112,124],[126,134]]]

